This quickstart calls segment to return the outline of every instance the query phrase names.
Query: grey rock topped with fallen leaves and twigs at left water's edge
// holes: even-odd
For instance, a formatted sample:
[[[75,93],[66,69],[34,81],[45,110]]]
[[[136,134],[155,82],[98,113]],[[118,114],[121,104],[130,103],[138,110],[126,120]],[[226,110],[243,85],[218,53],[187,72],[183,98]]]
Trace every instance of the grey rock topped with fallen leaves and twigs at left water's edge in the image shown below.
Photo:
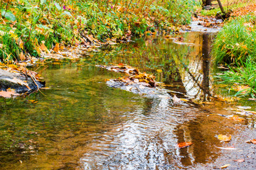
[[[36,82],[36,84],[35,84]],[[17,93],[31,93],[45,86],[44,82],[33,81],[31,77],[26,77],[21,73],[11,73],[4,69],[0,69],[0,91],[6,91],[6,89],[15,89]],[[29,87],[29,88],[28,88]]]

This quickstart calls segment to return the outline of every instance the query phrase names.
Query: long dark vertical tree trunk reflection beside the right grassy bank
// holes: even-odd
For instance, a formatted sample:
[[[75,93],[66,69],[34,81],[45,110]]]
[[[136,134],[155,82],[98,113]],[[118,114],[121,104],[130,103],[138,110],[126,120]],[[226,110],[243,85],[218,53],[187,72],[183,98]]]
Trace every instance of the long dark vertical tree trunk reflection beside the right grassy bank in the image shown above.
[[[210,45],[209,45],[209,35],[203,34],[203,46],[202,46],[202,58],[203,58],[203,81],[202,87],[206,91],[203,93],[203,101],[206,101],[210,94],[210,81],[209,81],[209,72],[210,72]]]

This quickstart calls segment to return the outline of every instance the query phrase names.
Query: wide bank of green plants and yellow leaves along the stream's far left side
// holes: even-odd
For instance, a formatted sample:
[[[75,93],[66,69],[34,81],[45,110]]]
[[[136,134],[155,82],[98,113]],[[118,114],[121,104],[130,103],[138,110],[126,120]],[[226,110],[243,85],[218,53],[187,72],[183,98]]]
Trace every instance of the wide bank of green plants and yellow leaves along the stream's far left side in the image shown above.
[[[196,0],[0,2],[0,60],[39,57],[42,50],[94,41],[126,40],[131,35],[171,31],[188,24]]]

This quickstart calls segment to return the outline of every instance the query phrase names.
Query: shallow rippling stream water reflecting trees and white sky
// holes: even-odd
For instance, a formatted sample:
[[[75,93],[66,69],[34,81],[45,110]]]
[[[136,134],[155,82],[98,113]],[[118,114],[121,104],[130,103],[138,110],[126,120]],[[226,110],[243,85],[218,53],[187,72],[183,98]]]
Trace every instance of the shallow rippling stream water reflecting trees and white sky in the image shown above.
[[[151,36],[79,60],[40,64],[47,66],[41,75],[48,89],[0,98],[0,169],[255,169],[256,147],[244,142],[256,136],[255,117],[236,122],[216,115],[234,114],[238,104],[255,110],[255,101],[210,99],[220,90],[212,76],[213,38],[201,32]],[[119,63],[154,74],[170,96],[188,101],[107,86],[106,79],[124,74],[95,65]],[[219,134],[233,140],[220,142]],[[179,142],[193,145],[179,149]]]

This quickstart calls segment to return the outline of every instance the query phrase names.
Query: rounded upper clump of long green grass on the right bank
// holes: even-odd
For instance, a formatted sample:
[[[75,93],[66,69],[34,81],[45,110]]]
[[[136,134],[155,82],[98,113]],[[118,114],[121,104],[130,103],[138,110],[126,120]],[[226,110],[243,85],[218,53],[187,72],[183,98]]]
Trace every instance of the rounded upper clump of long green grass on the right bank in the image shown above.
[[[240,16],[225,24],[213,43],[215,63],[241,64],[256,59],[256,16]]]

